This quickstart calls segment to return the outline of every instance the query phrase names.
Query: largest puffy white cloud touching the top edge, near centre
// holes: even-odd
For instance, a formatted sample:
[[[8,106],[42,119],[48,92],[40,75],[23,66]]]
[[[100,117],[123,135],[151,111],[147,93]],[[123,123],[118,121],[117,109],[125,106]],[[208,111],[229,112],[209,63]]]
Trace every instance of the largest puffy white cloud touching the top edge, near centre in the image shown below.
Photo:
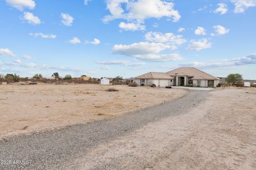
[[[123,5],[126,5],[125,9],[123,8]],[[106,15],[103,18],[103,22],[124,19],[127,21],[135,20],[139,23],[143,23],[145,19],[159,19],[164,16],[172,18],[173,22],[177,22],[180,20],[181,16],[173,7],[174,3],[161,0],[107,0],[107,8],[110,15]]]

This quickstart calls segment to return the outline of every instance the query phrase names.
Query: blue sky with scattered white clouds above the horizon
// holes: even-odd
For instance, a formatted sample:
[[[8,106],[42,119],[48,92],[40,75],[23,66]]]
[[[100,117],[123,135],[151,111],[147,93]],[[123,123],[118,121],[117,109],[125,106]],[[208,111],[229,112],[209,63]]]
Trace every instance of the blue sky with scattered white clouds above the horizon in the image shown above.
[[[0,74],[256,79],[256,0],[0,0]]]

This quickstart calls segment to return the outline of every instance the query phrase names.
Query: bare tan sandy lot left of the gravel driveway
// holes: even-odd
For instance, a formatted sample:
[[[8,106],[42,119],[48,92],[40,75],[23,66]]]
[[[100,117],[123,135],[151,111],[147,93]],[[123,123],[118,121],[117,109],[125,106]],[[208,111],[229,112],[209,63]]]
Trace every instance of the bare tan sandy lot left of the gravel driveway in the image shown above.
[[[119,91],[105,91],[109,88]],[[0,138],[119,116],[186,93],[97,84],[0,86]]]

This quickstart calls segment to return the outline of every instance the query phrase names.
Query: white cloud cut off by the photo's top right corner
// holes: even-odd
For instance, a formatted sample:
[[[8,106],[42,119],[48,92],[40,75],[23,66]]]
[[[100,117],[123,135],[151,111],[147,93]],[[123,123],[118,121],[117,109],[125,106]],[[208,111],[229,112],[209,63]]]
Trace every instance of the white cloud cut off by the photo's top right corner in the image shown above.
[[[243,13],[249,7],[256,6],[256,0],[229,0],[235,5],[235,13]]]

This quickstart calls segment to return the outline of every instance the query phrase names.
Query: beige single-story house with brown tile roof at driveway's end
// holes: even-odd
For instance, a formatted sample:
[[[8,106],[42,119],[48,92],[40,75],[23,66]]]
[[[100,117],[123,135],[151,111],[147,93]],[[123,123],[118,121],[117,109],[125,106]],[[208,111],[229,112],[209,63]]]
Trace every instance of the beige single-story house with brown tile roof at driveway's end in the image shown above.
[[[154,83],[156,86],[193,86],[217,87],[220,79],[196,69],[195,67],[180,67],[167,73],[149,72],[135,78],[139,86]]]

